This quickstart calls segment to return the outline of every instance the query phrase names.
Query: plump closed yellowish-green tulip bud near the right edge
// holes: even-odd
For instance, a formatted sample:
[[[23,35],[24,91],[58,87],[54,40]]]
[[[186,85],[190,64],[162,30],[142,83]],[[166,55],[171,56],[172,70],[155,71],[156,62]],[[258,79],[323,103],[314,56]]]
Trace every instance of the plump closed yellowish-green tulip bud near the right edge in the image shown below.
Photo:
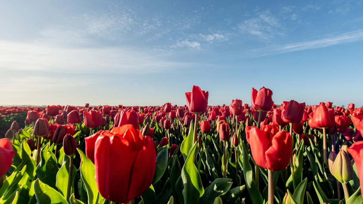
[[[335,158],[332,174],[341,183],[348,183],[353,177],[352,162],[347,152],[342,149]]]

